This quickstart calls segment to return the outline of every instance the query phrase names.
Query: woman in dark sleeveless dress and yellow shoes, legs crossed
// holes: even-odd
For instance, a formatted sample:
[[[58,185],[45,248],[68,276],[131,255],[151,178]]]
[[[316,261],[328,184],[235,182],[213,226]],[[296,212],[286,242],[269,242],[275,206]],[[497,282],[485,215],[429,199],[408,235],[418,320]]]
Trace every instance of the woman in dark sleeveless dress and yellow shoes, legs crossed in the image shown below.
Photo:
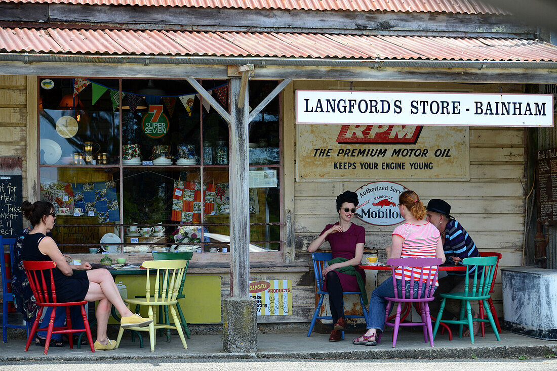
[[[33,226],[22,242],[23,260],[54,261],[56,268],[52,270],[56,287],[56,300],[64,301],[97,301],[97,339],[95,350],[111,350],[116,341],[106,337],[106,325],[110,316],[111,306],[122,314],[121,327],[144,327],[153,320],[141,318],[131,313],[122,300],[112,275],[106,269],[91,270],[89,263],[69,265],[55,241],[46,236],[56,222],[54,206],[50,202],[37,201],[31,204],[24,201],[21,205],[23,216]]]

